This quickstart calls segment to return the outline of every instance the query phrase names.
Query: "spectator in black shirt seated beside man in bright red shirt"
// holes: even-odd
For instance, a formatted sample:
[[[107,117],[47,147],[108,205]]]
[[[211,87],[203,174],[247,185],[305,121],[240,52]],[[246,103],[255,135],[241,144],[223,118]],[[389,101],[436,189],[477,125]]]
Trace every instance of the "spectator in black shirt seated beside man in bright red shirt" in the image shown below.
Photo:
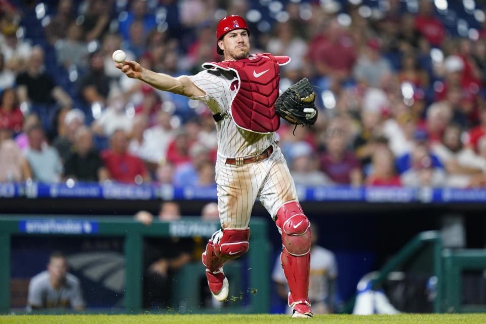
[[[74,135],[74,152],[64,164],[64,177],[80,181],[104,181],[109,178],[108,170],[99,153],[93,148],[93,134],[80,127]]]

